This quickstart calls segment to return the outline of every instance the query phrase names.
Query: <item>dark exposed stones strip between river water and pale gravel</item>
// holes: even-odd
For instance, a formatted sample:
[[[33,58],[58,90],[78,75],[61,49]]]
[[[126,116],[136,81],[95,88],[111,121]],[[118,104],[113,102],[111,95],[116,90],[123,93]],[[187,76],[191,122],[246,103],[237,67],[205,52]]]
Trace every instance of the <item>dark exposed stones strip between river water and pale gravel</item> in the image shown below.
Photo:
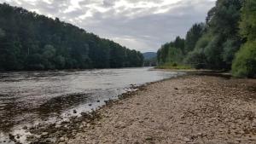
[[[68,121],[64,121],[59,125],[56,124],[47,124],[47,125],[35,125],[34,127],[30,128],[29,131],[32,133],[32,135],[29,135],[27,137],[27,142],[30,142],[30,144],[38,144],[38,143],[60,143],[63,144],[63,141],[68,141],[70,137],[73,137],[79,132],[82,132],[80,124],[83,124],[86,128],[93,128],[94,125],[98,124],[98,122],[102,119],[102,113],[101,111],[104,111],[104,109],[111,108],[115,105],[119,105],[119,102],[125,101],[127,99],[130,99],[131,97],[137,95],[139,92],[146,90],[148,85],[151,84],[158,84],[162,83],[167,80],[171,80],[173,78],[183,78],[186,77],[186,75],[177,75],[176,77],[172,78],[165,78],[161,79],[159,81],[155,82],[149,82],[146,84],[142,84],[139,86],[135,86],[131,84],[130,89],[135,89],[132,91],[127,91],[124,94],[118,95],[118,99],[108,100],[104,101],[105,105],[102,107],[96,108],[96,110],[93,110],[91,112],[81,112],[80,117],[74,116],[71,117]],[[122,103],[122,102],[121,102]],[[37,128],[38,127],[38,128]],[[35,128],[37,130],[35,130]],[[67,129],[66,129],[67,128]],[[52,131],[52,129],[55,129]],[[62,136],[60,135],[62,131],[65,132]],[[46,135],[46,133],[47,135]],[[67,135],[71,134],[71,135]],[[57,135],[57,136],[53,136]]]

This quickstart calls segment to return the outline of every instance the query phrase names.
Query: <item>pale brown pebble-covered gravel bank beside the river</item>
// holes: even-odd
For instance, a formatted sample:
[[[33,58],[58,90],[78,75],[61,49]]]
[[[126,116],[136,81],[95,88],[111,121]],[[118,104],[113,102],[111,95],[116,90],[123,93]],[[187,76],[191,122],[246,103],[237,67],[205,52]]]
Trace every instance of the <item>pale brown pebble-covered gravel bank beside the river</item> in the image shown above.
[[[172,78],[99,113],[61,143],[256,144],[256,79]]]

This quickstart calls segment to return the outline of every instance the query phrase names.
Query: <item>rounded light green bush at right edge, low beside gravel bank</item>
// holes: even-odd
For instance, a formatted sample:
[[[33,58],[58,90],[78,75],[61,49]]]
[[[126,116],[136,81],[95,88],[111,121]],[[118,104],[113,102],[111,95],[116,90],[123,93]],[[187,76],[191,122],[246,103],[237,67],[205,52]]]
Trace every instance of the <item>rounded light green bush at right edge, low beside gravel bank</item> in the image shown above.
[[[232,74],[238,78],[256,77],[256,41],[248,41],[236,53]]]

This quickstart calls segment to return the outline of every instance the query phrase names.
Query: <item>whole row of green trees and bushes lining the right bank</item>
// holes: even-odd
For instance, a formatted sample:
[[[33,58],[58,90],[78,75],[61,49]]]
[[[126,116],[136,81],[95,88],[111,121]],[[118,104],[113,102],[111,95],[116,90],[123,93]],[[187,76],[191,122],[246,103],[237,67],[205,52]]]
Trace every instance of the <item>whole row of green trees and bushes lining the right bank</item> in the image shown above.
[[[231,70],[236,77],[256,76],[256,1],[218,0],[205,23],[185,39],[177,37],[158,50],[160,65]]]

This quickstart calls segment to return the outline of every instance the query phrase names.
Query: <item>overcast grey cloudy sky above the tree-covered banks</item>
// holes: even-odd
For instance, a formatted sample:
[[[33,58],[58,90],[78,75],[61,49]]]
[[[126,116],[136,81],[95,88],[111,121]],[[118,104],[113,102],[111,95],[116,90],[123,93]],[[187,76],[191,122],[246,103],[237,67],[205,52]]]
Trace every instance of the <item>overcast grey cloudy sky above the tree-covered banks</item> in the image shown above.
[[[204,22],[216,0],[0,0],[58,17],[129,49],[156,52]]]

